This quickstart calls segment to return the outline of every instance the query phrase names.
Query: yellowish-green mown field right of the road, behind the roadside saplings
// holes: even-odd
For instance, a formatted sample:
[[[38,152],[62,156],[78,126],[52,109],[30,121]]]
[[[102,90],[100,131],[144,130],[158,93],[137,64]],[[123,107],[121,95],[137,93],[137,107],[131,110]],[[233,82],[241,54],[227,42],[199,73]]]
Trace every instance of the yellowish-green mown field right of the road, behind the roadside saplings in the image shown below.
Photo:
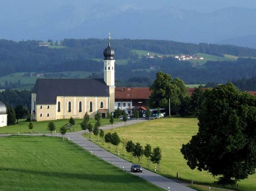
[[[191,170],[183,155],[180,152],[183,143],[189,142],[192,135],[198,131],[198,120],[195,118],[162,118],[139,123],[132,126],[121,127],[111,130],[116,131],[121,138],[131,139],[133,142],[140,142],[143,146],[150,143],[152,147],[162,148],[161,171],[158,173],[169,178],[175,178],[178,172],[179,178],[199,184],[213,184],[217,178],[213,178],[205,171]],[[101,142],[97,143],[102,146]],[[123,145],[120,144],[119,151],[123,153]],[[104,146],[104,149],[109,150]],[[111,152],[115,153],[113,150]],[[124,157],[124,156],[122,156]],[[125,159],[137,162],[126,154]],[[146,167],[146,158],[143,157],[142,165]],[[151,165],[151,170],[155,167]],[[238,182],[243,191],[256,190],[256,175],[249,176],[248,179]]]

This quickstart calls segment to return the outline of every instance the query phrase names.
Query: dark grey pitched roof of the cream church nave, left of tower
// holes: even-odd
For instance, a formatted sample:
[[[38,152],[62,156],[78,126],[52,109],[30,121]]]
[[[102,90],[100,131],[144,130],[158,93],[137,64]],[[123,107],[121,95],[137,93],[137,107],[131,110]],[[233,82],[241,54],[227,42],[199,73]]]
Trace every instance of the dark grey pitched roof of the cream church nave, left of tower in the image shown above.
[[[109,97],[109,86],[104,79],[39,78],[32,93],[36,93],[36,104],[56,104],[57,96]]]

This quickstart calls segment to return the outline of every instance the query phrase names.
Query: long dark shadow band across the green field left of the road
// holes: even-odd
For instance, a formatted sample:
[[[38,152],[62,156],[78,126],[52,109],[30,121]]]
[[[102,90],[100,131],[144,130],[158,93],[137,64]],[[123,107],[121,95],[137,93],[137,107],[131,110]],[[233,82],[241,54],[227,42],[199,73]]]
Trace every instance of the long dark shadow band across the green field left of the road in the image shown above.
[[[114,183],[141,183],[143,179],[138,178],[136,176],[132,177],[127,172],[123,174],[79,174],[73,172],[43,172],[43,171],[35,171],[35,170],[27,170],[20,168],[3,168],[0,167],[0,171],[10,171],[10,172],[18,172],[24,174],[33,174],[33,175],[42,175],[49,176],[51,178],[67,178],[67,179],[79,179],[79,180],[89,180],[94,182],[114,182]],[[116,170],[113,170],[113,173]]]

